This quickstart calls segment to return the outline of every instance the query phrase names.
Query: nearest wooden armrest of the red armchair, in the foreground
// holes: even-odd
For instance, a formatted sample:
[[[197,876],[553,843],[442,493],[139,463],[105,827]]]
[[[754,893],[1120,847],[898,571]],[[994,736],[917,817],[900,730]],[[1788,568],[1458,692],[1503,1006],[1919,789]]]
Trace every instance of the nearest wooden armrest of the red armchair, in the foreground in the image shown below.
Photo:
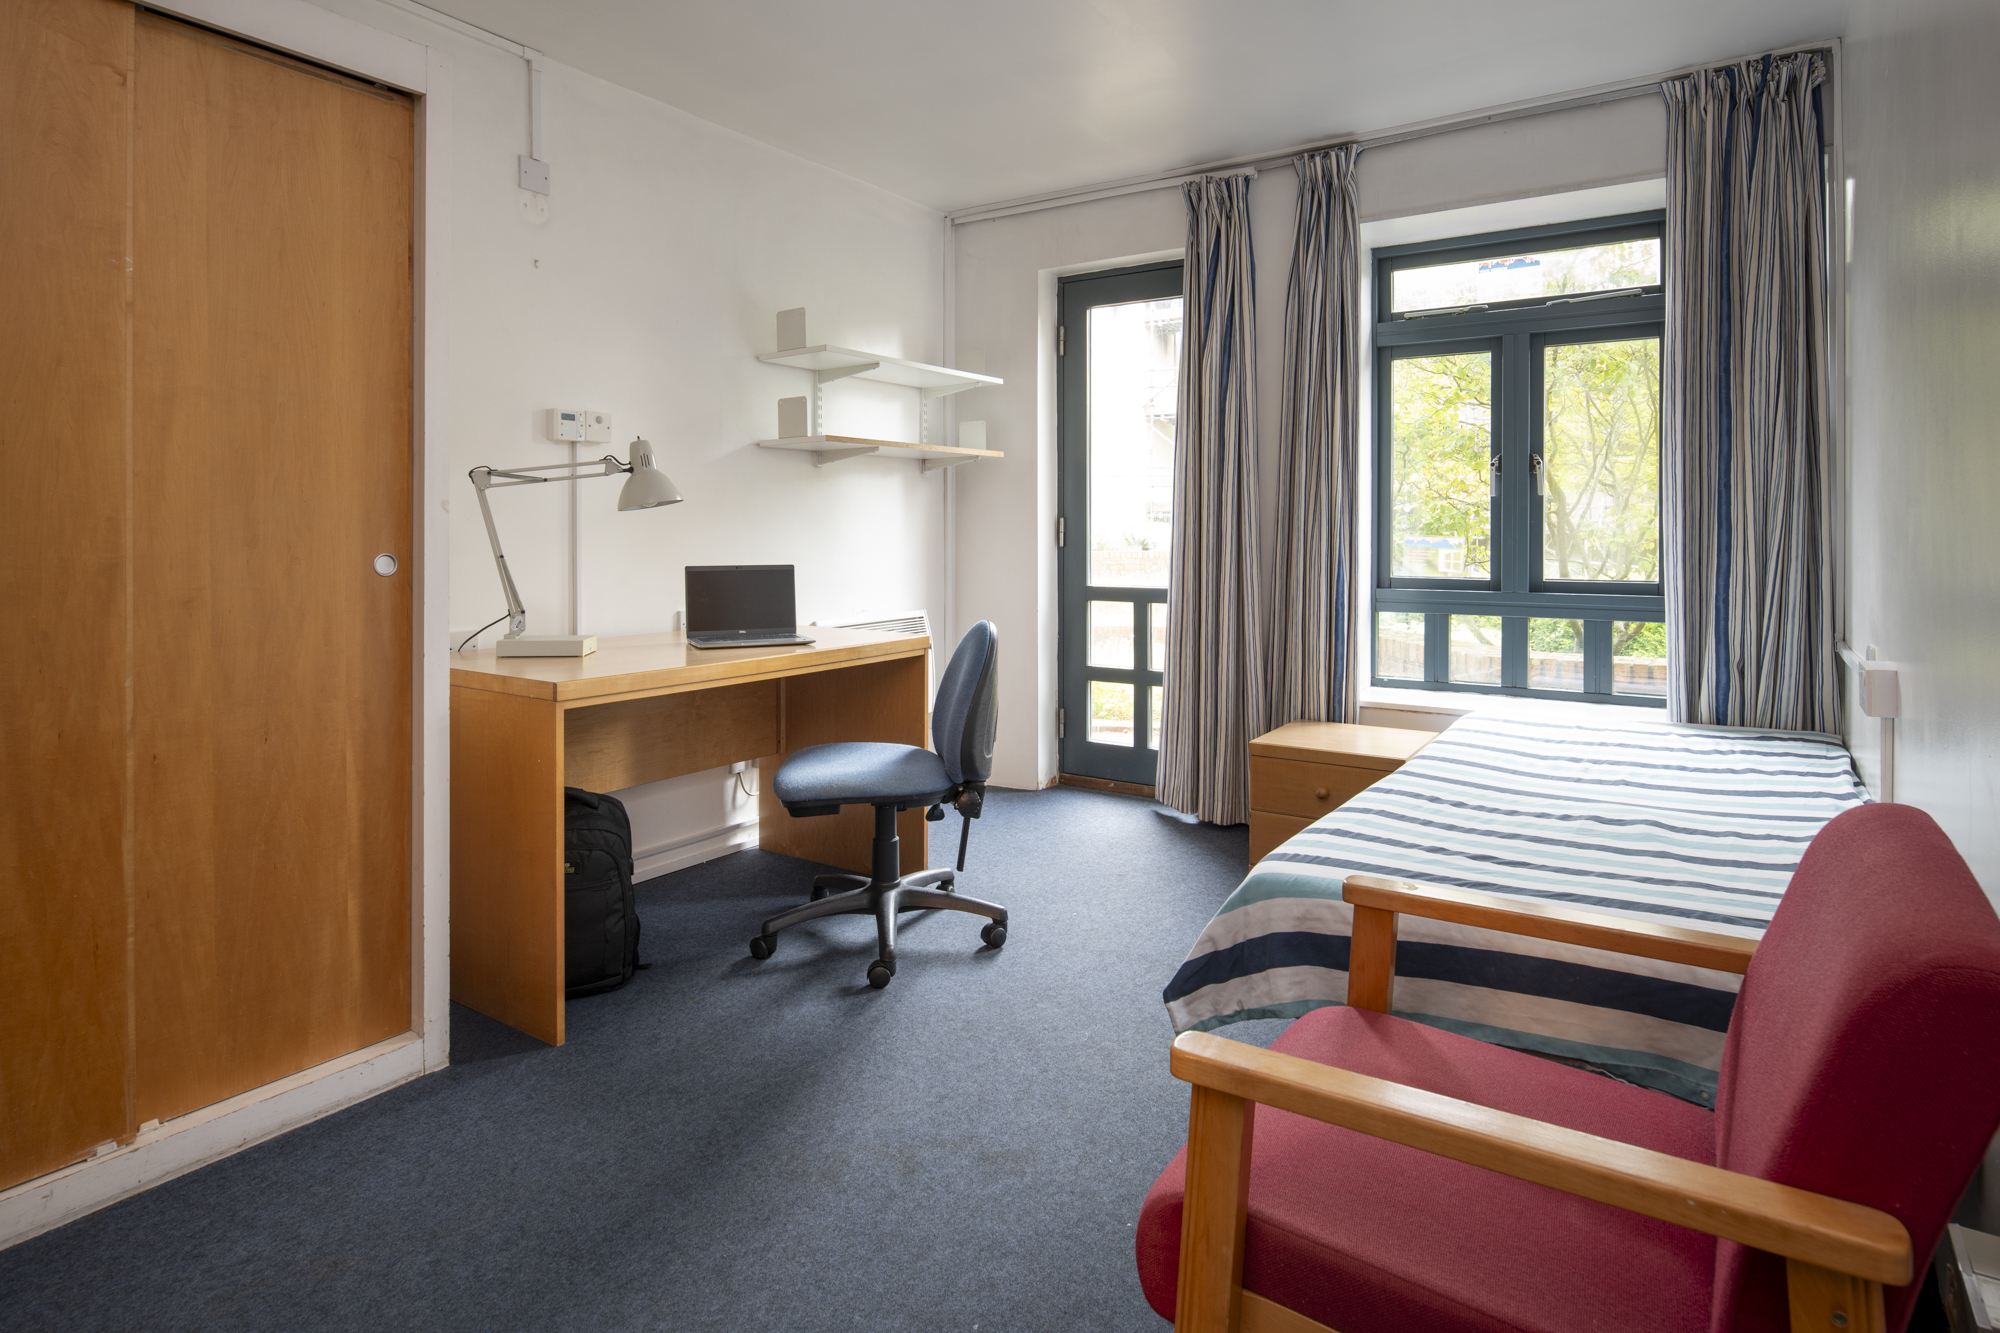
[[[1900,1287],[1910,1237],[1888,1213],[1524,1115],[1370,1079],[1214,1033],[1174,1039],[1172,1071],[1202,1089],[1404,1143],[1474,1167]],[[1248,1139],[1248,1135],[1246,1135]],[[1190,1153],[1192,1153],[1190,1129]],[[1190,1183],[1194,1165],[1190,1159]]]

